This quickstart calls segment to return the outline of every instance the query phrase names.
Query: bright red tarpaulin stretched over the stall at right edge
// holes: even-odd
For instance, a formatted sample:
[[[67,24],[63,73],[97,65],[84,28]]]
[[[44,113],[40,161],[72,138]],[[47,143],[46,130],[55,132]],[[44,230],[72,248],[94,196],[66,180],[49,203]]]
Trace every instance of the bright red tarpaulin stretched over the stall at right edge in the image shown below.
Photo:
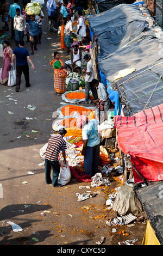
[[[163,104],[136,113],[132,117],[114,117],[117,142],[124,154],[148,181],[163,180]],[[142,182],[135,172],[135,183]]]

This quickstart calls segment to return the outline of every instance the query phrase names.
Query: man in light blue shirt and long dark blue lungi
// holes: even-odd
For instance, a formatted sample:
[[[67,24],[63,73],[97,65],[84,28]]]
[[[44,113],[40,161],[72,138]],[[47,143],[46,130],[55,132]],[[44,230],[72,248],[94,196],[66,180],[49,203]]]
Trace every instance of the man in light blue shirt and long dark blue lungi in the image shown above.
[[[89,123],[84,125],[82,130],[84,155],[84,174],[94,176],[98,173],[99,166],[99,135],[98,135],[99,121],[92,119]]]

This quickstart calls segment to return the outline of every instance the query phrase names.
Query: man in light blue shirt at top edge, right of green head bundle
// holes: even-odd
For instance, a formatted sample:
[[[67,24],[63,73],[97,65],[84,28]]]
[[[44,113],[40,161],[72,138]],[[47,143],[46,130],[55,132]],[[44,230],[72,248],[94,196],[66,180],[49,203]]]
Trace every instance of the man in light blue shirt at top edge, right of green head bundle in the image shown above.
[[[51,16],[51,11],[54,11],[57,9],[57,5],[55,4],[54,0],[48,0],[46,3],[46,8],[48,11],[48,22],[49,22],[49,30],[50,32],[56,33],[58,31],[57,27],[57,17]]]

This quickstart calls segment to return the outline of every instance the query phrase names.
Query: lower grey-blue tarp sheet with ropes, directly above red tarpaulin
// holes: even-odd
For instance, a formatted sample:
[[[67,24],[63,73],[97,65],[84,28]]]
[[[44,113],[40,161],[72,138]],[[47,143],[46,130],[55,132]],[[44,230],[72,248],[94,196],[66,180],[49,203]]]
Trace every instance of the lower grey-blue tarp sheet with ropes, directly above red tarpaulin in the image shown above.
[[[111,84],[111,89],[121,95],[125,116],[163,103],[162,75],[163,59]]]

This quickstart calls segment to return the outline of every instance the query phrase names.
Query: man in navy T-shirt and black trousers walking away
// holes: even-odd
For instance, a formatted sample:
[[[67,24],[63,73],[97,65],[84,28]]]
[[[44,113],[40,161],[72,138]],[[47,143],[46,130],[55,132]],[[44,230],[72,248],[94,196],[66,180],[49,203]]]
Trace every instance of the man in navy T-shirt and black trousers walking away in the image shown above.
[[[15,91],[19,92],[20,84],[21,84],[21,75],[22,72],[24,74],[26,80],[26,87],[30,87],[29,83],[29,66],[28,61],[32,65],[32,70],[34,70],[34,65],[32,59],[29,56],[29,52],[27,49],[24,48],[24,41],[19,43],[19,47],[15,48],[12,53],[11,63],[14,64],[14,58],[16,56],[16,88]]]

